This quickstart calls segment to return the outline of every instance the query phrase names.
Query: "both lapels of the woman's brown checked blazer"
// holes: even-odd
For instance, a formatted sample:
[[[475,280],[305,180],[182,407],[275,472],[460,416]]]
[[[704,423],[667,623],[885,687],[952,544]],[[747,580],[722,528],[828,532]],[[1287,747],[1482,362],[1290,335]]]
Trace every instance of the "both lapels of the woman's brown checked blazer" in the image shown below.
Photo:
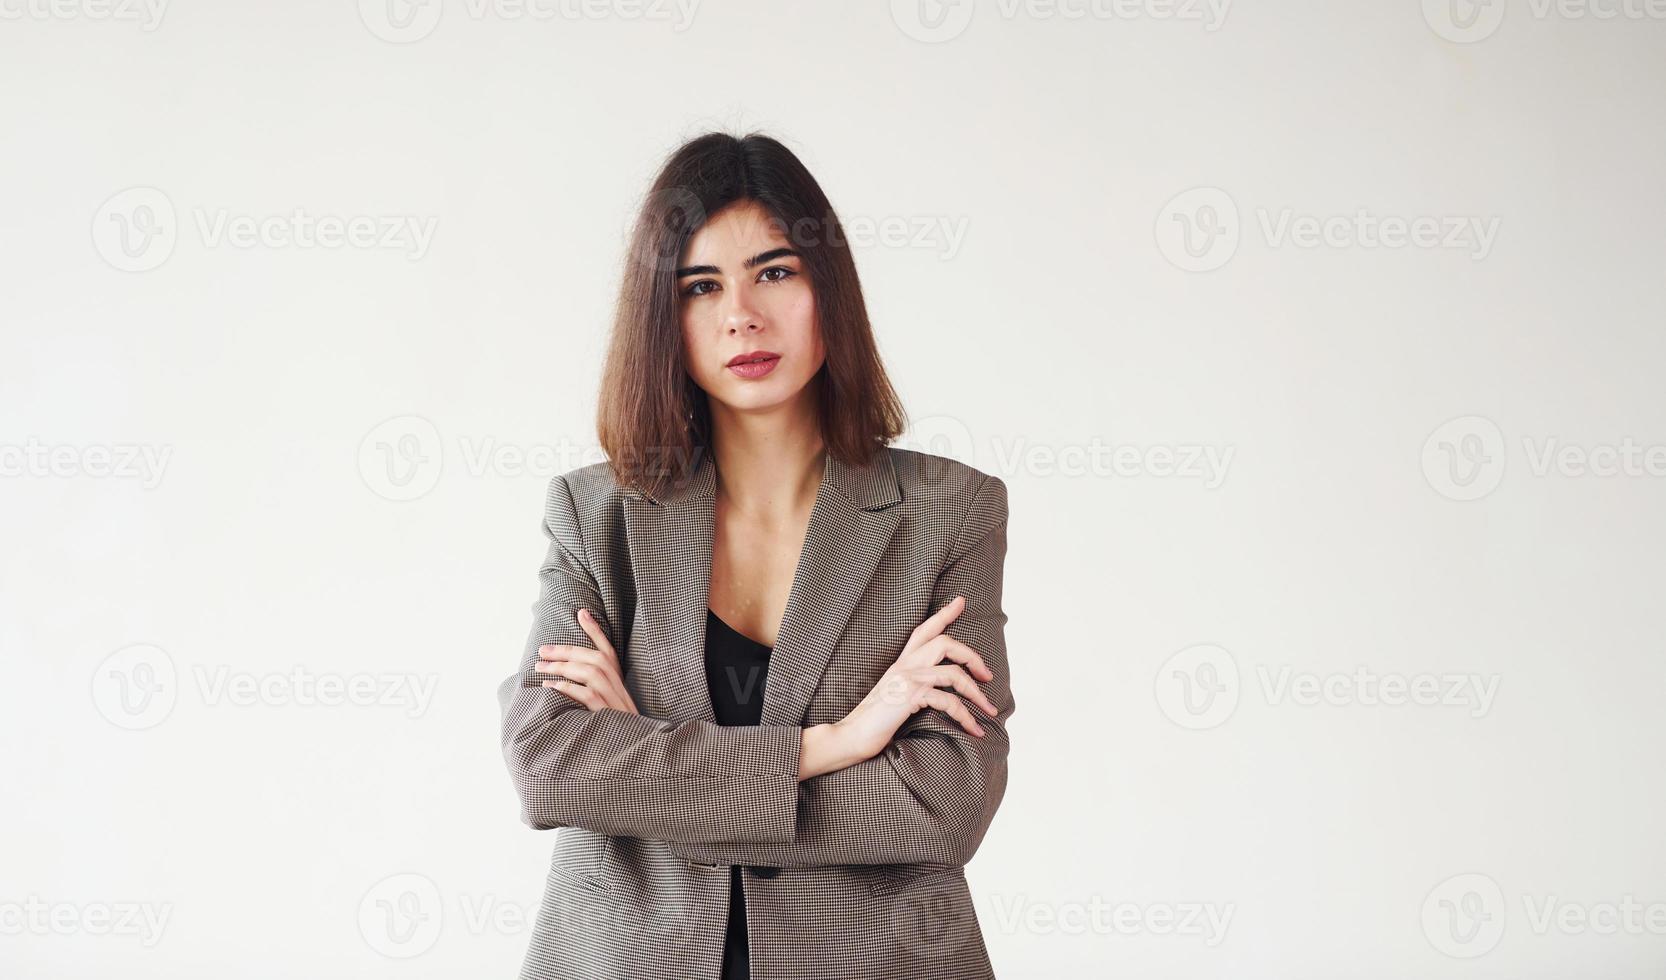
[[[826,453],[821,487],[763,692],[765,725],[801,725],[828,660],[901,520],[890,448],[865,467]],[[716,468],[700,455],[695,473],[660,500],[625,497],[625,528],[636,578],[630,638],[638,690],[651,690],[666,720],[715,722],[706,690],[705,637],[711,597]],[[650,702],[653,703],[653,702]]]

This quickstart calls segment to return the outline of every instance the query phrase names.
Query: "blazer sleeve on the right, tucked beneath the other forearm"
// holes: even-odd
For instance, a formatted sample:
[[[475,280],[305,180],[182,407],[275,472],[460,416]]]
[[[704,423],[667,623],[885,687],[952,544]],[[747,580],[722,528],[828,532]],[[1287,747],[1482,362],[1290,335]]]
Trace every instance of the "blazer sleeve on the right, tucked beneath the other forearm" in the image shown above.
[[[996,717],[968,705],[983,725],[983,738],[938,708],[921,708],[880,755],[805,780],[791,842],[731,838],[673,843],[671,850],[693,862],[778,868],[968,863],[1006,792],[1006,720],[1015,702],[1001,608],[1005,560],[1006,485],[988,477],[931,593],[933,612],[956,595],[966,597],[966,608],[945,632],[976,650],[995,673],[981,687]]]

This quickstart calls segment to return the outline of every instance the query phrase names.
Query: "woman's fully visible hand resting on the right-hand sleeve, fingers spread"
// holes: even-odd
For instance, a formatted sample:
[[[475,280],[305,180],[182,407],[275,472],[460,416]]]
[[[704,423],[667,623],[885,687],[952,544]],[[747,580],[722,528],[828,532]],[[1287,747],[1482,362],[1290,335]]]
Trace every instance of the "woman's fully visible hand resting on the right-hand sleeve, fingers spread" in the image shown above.
[[[971,715],[966,702],[975,702],[983,713],[993,718],[998,713],[995,703],[985,697],[973,678],[988,682],[995,680],[995,673],[983,663],[983,657],[976,650],[955,637],[943,635],[943,630],[965,608],[966,598],[956,595],[931,618],[915,627],[896,663],[885,672],[868,697],[841,722],[835,722],[823,737],[830,738],[831,745],[836,745],[846,757],[861,762],[885,752],[910,715],[920,708],[938,708],[960,722],[961,728],[981,738],[983,725]],[[953,663],[943,663],[945,660]]]

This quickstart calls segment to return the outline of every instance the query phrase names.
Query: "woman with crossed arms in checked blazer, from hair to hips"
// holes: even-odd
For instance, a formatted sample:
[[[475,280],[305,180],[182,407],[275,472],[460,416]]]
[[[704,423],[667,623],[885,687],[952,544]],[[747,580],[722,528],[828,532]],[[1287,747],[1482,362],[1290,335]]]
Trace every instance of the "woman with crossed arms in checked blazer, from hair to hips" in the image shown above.
[[[681,147],[631,257],[608,462],[550,483],[500,687],[523,820],[561,828],[521,977],[993,977],[963,867],[1006,788],[1006,485],[888,445],[778,142]]]

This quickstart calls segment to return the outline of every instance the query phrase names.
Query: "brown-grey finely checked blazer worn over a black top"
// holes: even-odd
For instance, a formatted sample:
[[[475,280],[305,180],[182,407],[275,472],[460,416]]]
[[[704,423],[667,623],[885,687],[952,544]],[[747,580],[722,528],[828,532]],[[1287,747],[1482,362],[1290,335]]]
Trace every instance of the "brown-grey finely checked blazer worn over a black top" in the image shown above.
[[[716,725],[706,687],[715,487],[706,457],[660,500],[608,463],[550,482],[533,628],[498,688],[521,820],[556,828],[521,977],[715,980],[730,865],[756,980],[993,977],[963,867],[1006,790],[1006,485],[903,448],[826,453],[756,727]],[[801,728],[850,713],[955,595],[946,632],[995,673],[985,737],[921,708],[880,755],[798,782]],[[580,607],[640,715],[541,687],[540,645],[593,647]]]

